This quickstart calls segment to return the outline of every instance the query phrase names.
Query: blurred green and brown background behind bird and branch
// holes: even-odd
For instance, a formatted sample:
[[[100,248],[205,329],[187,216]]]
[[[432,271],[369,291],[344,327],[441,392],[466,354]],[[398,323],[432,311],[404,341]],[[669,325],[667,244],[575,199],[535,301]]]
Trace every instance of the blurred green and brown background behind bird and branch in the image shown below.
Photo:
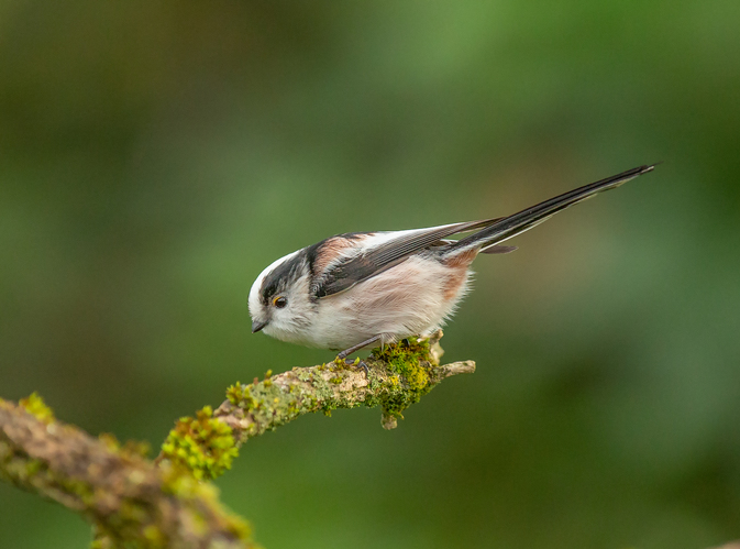
[[[277,548],[740,538],[740,2],[0,2],[0,395],[161,443],[267,369],[246,295],[328,235],[653,174],[476,263],[410,408],[305,417],[224,502]],[[0,546],[88,526],[0,484]]]

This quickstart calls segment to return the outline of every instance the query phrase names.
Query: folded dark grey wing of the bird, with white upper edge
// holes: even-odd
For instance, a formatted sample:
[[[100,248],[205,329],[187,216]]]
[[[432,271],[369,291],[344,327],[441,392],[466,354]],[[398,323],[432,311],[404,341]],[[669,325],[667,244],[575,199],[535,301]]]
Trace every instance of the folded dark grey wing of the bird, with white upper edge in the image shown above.
[[[398,265],[409,256],[432,248],[434,245],[450,245],[452,242],[444,241],[446,237],[459,232],[472,231],[490,226],[501,218],[484,219],[482,221],[467,221],[463,223],[431,227],[412,231],[397,231],[386,233],[365,233],[362,235],[367,251],[353,254],[344,260],[331,263],[325,271],[317,273],[317,286],[312,288],[316,297],[328,297],[340,292],[350,289],[355,284],[372,278],[373,276]],[[334,239],[342,237],[334,237]],[[331,245],[329,239],[327,245]],[[377,244],[373,245],[373,240]],[[358,246],[363,248],[363,246]]]

